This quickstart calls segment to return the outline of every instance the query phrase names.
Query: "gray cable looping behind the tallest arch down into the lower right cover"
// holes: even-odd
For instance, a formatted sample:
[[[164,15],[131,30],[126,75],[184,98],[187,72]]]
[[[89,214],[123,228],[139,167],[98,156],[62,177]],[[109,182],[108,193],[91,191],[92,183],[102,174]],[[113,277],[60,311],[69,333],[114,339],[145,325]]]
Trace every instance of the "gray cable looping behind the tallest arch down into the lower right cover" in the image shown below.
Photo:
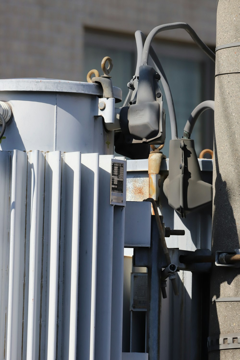
[[[143,40],[146,40],[146,36],[144,33],[140,30],[137,30],[135,32],[135,39],[136,39],[136,45],[137,45],[137,66],[136,66],[136,72],[135,75],[139,76],[139,67],[141,66],[141,59],[142,59],[142,50],[143,50]],[[173,104],[173,98],[172,93],[167,81],[167,77],[164,73],[164,70],[162,68],[162,65],[160,63],[160,60],[158,59],[157,54],[153,50],[152,46],[150,46],[150,57],[152,58],[155,68],[158,71],[158,73],[161,76],[161,82],[163,85],[164,93],[166,95],[167,105],[168,105],[168,111],[169,111],[169,117],[170,117],[170,124],[171,124],[171,134],[172,139],[177,138],[177,121],[176,121],[176,113],[175,108]]]

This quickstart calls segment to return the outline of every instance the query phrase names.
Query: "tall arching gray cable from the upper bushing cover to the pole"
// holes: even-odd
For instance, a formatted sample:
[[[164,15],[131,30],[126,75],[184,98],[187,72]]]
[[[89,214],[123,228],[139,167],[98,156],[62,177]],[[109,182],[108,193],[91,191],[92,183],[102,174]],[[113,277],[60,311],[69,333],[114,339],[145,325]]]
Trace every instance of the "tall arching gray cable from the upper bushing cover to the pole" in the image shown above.
[[[213,62],[215,62],[215,54],[208,48],[208,46],[206,44],[204,44],[203,41],[201,41],[201,39],[198,37],[198,35],[195,33],[195,31],[191,28],[191,26],[186,23],[177,22],[177,23],[163,24],[163,25],[157,26],[149,33],[149,35],[145,41],[143,52],[142,52],[142,62],[141,62],[142,65],[148,64],[148,56],[149,56],[150,46],[151,46],[151,42],[152,42],[154,36],[157,35],[161,31],[173,30],[173,29],[186,30],[189,33],[189,35],[191,36],[191,38],[199,46],[199,48],[202,49],[204,51],[204,53],[207,54],[209,56],[209,58],[213,60]]]

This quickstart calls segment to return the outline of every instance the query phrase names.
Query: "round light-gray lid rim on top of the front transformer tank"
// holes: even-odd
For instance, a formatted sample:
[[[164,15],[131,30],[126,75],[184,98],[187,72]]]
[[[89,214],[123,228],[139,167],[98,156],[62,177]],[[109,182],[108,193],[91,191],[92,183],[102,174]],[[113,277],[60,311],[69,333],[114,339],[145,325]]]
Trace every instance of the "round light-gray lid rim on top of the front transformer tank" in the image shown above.
[[[52,91],[103,96],[100,85],[82,82],[46,78],[0,79],[0,91]],[[122,101],[122,90],[113,86],[116,103]]]

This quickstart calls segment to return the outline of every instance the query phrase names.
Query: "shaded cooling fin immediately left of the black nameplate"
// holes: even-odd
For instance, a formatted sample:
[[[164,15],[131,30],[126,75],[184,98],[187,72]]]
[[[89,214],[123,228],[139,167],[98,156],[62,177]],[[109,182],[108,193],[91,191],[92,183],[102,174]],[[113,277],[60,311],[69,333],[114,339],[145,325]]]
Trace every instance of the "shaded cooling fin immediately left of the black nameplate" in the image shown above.
[[[99,157],[95,360],[110,360],[113,205],[110,205],[109,189],[112,158],[111,155]]]

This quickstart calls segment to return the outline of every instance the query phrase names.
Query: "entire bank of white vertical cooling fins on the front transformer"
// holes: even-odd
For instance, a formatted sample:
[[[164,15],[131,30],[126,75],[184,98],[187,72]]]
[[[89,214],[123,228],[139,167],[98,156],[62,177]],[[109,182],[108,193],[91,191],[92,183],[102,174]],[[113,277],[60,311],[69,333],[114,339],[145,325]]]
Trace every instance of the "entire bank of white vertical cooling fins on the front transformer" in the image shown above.
[[[112,157],[0,152],[1,357],[121,360],[125,209],[110,205]]]

